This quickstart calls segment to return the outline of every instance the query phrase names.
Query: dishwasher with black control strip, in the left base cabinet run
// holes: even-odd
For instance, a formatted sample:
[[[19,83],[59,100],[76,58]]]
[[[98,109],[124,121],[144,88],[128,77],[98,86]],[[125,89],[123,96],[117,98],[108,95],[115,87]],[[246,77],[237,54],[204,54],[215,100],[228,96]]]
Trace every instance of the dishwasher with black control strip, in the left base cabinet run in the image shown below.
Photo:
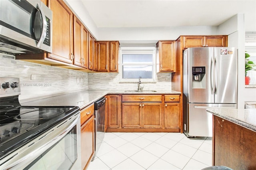
[[[94,116],[95,116],[95,153],[92,158],[96,156],[100,145],[104,139],[105,134],[105,103],[106,98],[102,97],[98,101],[94,102]]]

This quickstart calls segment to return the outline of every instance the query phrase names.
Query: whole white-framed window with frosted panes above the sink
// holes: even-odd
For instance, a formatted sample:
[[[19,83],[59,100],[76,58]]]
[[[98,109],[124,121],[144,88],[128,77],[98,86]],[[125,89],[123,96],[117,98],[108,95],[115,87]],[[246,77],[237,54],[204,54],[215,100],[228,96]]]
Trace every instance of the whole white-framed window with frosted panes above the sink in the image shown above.
[[[154,80],[154,58],[155,47],[121,47],[122,79]]]

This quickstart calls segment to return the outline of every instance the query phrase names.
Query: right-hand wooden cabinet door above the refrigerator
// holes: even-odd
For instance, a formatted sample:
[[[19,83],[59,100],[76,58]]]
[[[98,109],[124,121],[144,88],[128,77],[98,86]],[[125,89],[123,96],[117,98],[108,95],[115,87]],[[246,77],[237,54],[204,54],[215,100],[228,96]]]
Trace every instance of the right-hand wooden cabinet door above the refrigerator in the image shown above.
[[[206,36],[206,47],[226,47],[226,36]]]

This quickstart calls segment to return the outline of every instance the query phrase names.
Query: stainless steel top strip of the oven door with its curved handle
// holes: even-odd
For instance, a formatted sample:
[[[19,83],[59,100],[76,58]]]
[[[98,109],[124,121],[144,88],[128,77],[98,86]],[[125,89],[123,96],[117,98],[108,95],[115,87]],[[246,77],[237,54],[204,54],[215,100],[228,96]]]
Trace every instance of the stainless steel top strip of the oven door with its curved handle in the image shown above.
[[[69,121],[72,121],[72,122],[70,122],[70,124],[67,125],[67,127],[65,127],[65,124],[68,123]],[[24,148],[24,147],[20,148],[18,150],[18,154],[15,153],[14,156],[12,156],[8,160],[6,160],[7,165],[4,167],[4,164],[3,164],[3,166],[1,166],[0,169],[5,170],[5,169],[12,169],[12,168],[13,169],[26,168],[26,166],[28,166],[28,164],[33,162],[33,160],[38,158],[38,156],[43,154],[48,148],[50,148],[51,146],[56,144],[56,142],[60,141],[62,139],[62,137],[64,137],[66,134],[68,134],[68,132],[74,126],[76,126],[77,123],[79,123],[79,125],[80,125],[80,114],[76,114],[72,118],[69,118],[68,120],[56,125],[53,129],[42,134],[43,136],[39,136],[38,138],[34,139],[33,143],[29,143],[26,146],[24,146],[26,148]],[[61,130],[60,128],[62,128],[62,127],[64,127],[65,129]],[[80,127],[77,127],[77,128],[80,128]],[[40,144],[40,146],[38,147],[37,144]],[[28,152],[27,152],[28,150],[33,150],[33,151],[28,154]],[[8,161],[12,160],[12,159],[14,159],[13,163],[11,163],[11,164],[8,163]]]

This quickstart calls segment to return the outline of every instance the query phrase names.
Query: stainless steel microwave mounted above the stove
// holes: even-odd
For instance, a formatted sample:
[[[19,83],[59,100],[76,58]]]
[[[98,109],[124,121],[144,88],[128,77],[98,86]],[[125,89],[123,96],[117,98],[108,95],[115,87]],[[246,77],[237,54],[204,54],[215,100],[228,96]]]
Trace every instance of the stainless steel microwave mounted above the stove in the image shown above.
[[[52,11],[40,0],[0,0],[0,52],[52,53]]]

